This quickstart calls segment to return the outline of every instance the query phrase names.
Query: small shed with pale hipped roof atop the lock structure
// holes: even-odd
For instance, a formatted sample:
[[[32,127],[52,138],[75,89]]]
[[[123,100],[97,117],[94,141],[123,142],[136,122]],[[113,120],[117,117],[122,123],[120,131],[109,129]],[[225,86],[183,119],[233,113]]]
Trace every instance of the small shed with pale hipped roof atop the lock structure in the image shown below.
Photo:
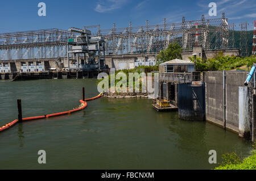
[[[174,59],[159,65],[159,73],[184,73],[195,71],[195,64],[188,60]]]

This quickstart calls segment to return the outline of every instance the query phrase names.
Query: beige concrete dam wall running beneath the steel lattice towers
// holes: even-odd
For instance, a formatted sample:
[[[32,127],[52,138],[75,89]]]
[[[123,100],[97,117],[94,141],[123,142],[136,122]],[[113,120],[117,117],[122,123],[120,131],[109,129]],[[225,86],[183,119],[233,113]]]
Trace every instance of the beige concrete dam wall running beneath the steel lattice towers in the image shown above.
[[[193,53],[197,54],[197,57],[200,58],[213,58],[217,56],[218,52],[223,52],[224,56],[239,56],[240,52],[238,49],[226,49],[226,50],[203,50],[201,46],[193,47],[193,51],[182,52],[181,56],[183,60],[189,60],[189,57],[192,57]],[[106,55],[106,65],[109,68],[115,68],[116,70],[121,69],[120,65],[125,65],[126,69],[134,68],[134,62],[137,60],[147,61],[147,60],[156,60],[156,56],[159,53],[139,53],[139,54],[110,54]],[[96,56],[96,61],[97,61]],[[81,64],[84,57],[79,57],[79,64]],[[88,57],[86,57],[86,61]],[[68,67],[67,57],[61,58],[39,58],[39,59],[23,59],[23,60],[5,60],[1,61],[0,64],[7,64],[10,66],[10,72],[20,72],[22,64],[37,64],[36,62],[40,62],[44,66],[45,70],[58,68],[58,62],[63,64],[64,68]]]

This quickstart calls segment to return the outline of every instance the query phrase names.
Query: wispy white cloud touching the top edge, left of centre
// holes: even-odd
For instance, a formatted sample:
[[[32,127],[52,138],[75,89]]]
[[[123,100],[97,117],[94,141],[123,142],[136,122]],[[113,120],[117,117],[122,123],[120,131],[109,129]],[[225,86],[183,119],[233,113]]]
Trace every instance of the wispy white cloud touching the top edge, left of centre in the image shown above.
[[[126,2],[127,0],[100,1],[97,3],[97,6],[94,10],[97,12],[109,12],[112,10],[120,9]]]

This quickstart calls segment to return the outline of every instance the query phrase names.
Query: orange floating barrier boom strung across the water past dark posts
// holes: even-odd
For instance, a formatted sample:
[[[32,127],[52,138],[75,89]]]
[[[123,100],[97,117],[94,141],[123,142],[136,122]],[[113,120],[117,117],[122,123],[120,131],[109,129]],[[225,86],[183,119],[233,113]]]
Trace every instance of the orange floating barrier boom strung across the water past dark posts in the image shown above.
[[[98,99],[102,96],[102,94],[103,94],[103,92],[101,92],[101,94],[97,95],[94,98],[85,99],[85,101],[80,100],[81,105],[78,108],[75,108],[73,110],[65,111],[65,112],[52,113],[52,114],[44,115],[44,116],[26,117],[26,118],[22,118],[22,121],[38,120],[38,119],[44,119],[44,118],[49,118],[49,117],[56,117],[56,116],[67,115],[69,113],[84,110],[84,108],[86,108],[88,106],[86,101]],[[9,128],[13,127],[16,123],[18,123],[18,119],[15,119],[11,123],[8,123],[8,124],[4,125],[3,127],[0,127],[0,132],[5,131],[6,129],[9,129]]]

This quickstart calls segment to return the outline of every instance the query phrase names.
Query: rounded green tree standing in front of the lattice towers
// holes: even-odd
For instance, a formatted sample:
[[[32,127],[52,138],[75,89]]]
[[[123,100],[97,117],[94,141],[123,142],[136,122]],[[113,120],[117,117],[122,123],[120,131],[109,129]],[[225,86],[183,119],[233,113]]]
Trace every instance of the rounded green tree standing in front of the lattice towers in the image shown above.
[[[182,47],[176,42],[174,44],[171,43],[168,45],[167,49],[162,50],[158,56],[156,56],[156,59],[159,63],[174,60],[176,58],[181,59],[182,50]]]

